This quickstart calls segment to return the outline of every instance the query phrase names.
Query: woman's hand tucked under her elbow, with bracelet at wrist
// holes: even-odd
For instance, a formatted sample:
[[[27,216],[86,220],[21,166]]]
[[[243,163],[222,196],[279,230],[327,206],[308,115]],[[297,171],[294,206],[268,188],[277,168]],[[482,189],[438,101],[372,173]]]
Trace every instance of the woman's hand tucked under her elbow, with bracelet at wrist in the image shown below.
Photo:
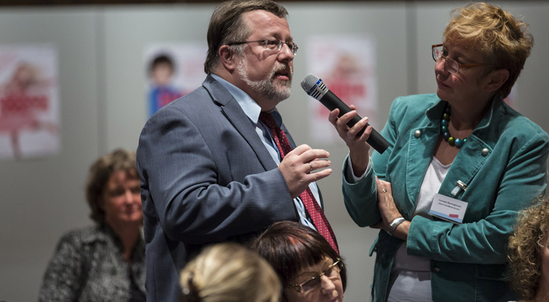
[[[387,231],[390,222],[396,218],[402,217],[402,215],[399,212],[399,209],[397,209],[397,205],[395,205],[393,189],[390,183],[377,179],[377,176],[375,176],[375,185],[377,185],[377,206],[382,214],[382,221],[380,222],[381,225],[375,224],[373,227],[380,227]],[[408,237],[408,229],[410,229],[410,222],[404,221],[399,224],[395,231],[393,231],[393,236],[406,240],[406,237]]]

